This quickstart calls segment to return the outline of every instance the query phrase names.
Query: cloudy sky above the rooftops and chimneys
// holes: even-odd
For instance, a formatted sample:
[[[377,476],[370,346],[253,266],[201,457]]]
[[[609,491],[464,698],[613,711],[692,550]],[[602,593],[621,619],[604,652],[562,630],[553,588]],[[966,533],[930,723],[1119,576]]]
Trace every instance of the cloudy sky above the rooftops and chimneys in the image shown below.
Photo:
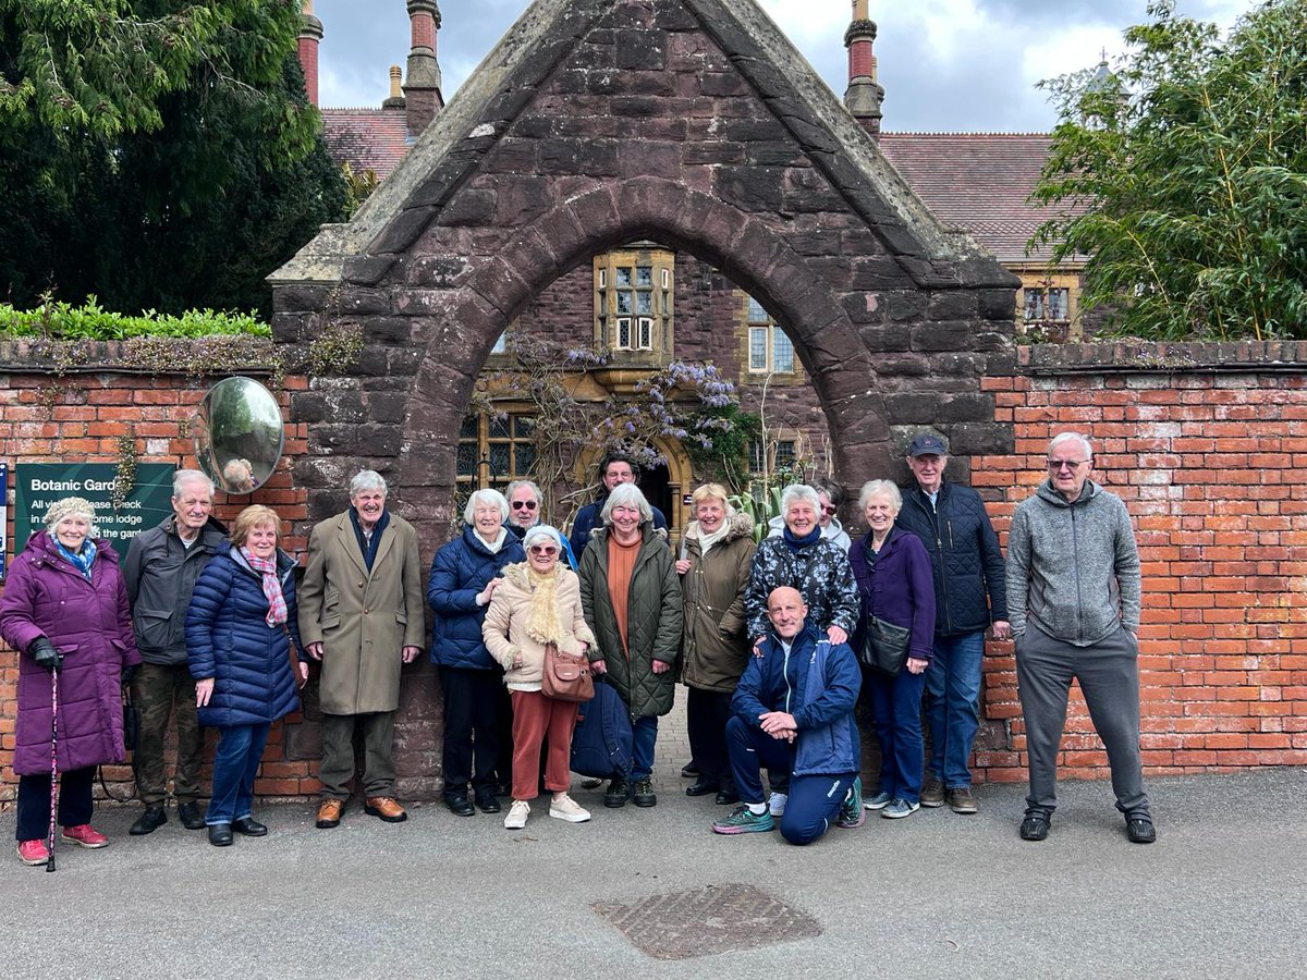
[[[759,0],[826,84],[848,82],[850,0]],[[529,0],[439,0],[446,101]],[[1179,0],[1180,13],[1229,26],[1253,0]],[[380,106],[388,68],[404,65],[404,0],[315,0],[325,37],[320,103]],[[890,132],[1044,132],[1053,112],[1040,78],[1121,54],[1121,31],[1145,21],[1145,0],[870,0]]]

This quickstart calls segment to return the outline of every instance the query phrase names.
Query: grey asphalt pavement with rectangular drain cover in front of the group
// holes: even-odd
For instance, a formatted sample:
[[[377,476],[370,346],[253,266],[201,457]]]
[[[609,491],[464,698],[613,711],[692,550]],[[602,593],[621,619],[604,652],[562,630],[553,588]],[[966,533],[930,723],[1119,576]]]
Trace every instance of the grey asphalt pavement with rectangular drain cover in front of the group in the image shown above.
[[[677,791],[680,787],[677,787]],[[711,797],[589,823],[533,806],[386,825],[350,804],[316,830],[261,806],[267,838],[214,848],[170,822],[58,870],[0,858],[5,977],[1265,977],[1307,976],[1307,771],[1149,783],[1158,843],[1131,844],[1107,783],[1063,781],[1022,841],[1021,785],[980,813],[868,814],[808,848],[724,838]],[[13,839],[12,813],[0,834]],[[733,887],[733,886],[744,886]],[[626,907],[626,908],[623,908]],[[652,943],[652,946],[651,946]],[[659,945],[660,943],[660,945]],[[715,951],[714,951],[715,950]]]

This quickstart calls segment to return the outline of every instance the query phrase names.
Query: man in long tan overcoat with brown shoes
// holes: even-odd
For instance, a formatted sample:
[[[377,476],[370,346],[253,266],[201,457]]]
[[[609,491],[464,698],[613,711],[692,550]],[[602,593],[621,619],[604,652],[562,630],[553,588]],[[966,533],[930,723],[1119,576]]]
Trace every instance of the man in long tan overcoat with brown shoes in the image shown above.
[[[299,635],[323,665],[323,828],[340,823],[349,798],[356,729],[363,736],[363,811],[387,823],[408,818],[395,800],[395,710],[400,664],[422,651],[426,629],[413,525],[386,508],[386,481],[370,469],[350,481],[349,503],[314,528],[299,587]]]

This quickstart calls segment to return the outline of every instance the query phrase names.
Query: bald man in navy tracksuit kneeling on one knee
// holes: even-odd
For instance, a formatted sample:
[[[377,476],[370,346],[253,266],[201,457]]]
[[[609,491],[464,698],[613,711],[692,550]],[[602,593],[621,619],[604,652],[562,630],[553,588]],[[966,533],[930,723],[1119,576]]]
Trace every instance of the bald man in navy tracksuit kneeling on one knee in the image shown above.
[[[863,781],[853,704],[861,686],[857,660],[847,643],[831,644],[804,626],[808,606],[797,589],[767,597],[771,629],[761,655],[750,657],[731,702],[727,723],[731,771],[742,805],[712,825],[718,834],[769,831],[761,768],[791,774],[789,801],[780,834],[809,844],[830,827],[859,827]]]

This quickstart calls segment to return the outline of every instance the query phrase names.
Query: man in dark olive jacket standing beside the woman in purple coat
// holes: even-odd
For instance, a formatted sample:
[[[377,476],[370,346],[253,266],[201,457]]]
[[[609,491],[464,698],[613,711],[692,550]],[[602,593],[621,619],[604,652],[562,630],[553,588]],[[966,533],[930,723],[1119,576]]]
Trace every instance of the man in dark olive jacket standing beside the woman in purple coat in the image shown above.
[[[176,719],[176,768],[173,796],[187,830],[201,830],[196,804],[204,734],[195,712],[195,681],[186,659],[186,610],[196,579],[226,529],[213,519],[213,481],[197,469],[173,477],[173,515],[132,538],[123,578],[132,604],[132,630],[141,665],[132,678],[132,702],[140,713],[136,737],[136,789],[145,805],[128,834],[152,834],[167,823],[167,775],[163,742]]]

